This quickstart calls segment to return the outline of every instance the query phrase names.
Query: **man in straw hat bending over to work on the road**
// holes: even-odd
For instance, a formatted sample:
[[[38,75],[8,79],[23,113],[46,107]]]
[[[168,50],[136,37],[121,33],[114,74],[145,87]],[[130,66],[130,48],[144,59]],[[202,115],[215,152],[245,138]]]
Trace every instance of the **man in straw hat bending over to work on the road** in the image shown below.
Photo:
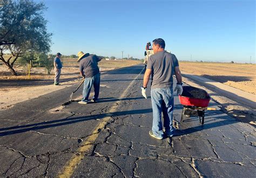
[[[97,102],[99,97],[99,83],[100,83],[100,72],[98,62],[102,60],[97,55],[90,55],[89,53],[83,53],[82,51],[77,53],[79,62],[80,74],[84,77],[84,89],[83,99],[79,101],[79,104],[87,104],[88,98],[92,86],[94,87],[95,95],[91,99],[91,102]]]

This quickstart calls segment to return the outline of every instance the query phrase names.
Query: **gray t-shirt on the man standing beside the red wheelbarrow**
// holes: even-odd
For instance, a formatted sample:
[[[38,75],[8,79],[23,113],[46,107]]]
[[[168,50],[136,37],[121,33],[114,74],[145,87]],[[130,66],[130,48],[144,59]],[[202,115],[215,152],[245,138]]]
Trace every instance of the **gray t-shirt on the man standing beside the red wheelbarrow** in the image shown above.
[[[163,51],[151,55],[147,61],[147,69],[152,69],[151,88],[171,88],[177,66],[179,62],[174,54]]]

